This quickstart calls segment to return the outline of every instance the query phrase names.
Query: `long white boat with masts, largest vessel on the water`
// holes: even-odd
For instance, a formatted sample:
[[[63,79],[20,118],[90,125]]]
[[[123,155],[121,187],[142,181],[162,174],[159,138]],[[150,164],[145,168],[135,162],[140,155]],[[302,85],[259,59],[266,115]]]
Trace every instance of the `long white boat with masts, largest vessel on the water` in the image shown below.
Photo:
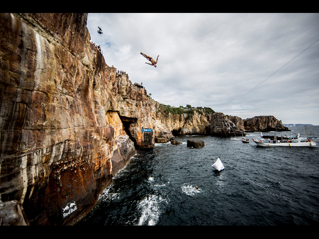
[[[263,140],[253,140],[258,146],[263,147],[277,147],[277,146],[288,146],[288,147],[313,147],[316,146],[316,142],[313,140],[301,140],[300,134],[298,133],[296,136],[291,136],[287,140],[277,140],[276,135],[274,140],[263,141]]]

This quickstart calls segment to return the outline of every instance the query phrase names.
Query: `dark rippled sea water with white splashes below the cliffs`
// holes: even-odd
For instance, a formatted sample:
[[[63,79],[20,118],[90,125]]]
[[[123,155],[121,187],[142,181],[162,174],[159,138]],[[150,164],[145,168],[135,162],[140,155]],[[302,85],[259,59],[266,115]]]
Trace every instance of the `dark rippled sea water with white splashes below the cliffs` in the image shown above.
[[[276,135],[306,137],[304,126],[290,129]],[[319,126],[307,132],[319,145]],[[187,148],[187,139],[205,146]],[[199,135],[176,140],[183,144],[138,149],[76,225],[319,225],[319,146],[258,147]],[[211,167],[217,158],[225,167],[220,172]]]

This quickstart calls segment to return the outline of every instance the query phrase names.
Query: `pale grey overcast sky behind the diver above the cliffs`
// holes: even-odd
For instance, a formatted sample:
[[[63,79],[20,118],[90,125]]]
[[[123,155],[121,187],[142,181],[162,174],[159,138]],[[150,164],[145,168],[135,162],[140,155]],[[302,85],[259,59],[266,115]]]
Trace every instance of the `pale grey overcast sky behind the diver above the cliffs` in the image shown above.
[[[87,27],[160,103],[319,125],[319,13],[89,13]]]

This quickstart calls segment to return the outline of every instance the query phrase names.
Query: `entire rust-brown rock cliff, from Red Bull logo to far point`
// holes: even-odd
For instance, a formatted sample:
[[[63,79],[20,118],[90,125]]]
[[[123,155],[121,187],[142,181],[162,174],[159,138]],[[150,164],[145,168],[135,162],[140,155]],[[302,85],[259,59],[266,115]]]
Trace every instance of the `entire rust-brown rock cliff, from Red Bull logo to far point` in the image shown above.
[[[106,64],[86,21],[0,13],[0,203],[21,206],[26,224],[67,225],[87,213],[136,147],[288,129],[272,116],[161,106]]]

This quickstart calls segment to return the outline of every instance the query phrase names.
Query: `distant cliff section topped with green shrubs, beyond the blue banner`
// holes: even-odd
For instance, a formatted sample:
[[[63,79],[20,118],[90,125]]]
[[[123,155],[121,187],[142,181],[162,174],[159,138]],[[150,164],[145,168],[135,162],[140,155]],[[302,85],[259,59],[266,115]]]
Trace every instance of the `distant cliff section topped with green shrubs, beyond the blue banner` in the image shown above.
[[[198,107],[192,114],[187,111],[174,112],[165,107],[157,107],[153,115],[155,137],[170,139],[172,136],[204,134],[220,137],[245,136],[248,132],[289,131],[282,121],[273,116],[259,116],[241,119],[215,113],[210,108]]]

